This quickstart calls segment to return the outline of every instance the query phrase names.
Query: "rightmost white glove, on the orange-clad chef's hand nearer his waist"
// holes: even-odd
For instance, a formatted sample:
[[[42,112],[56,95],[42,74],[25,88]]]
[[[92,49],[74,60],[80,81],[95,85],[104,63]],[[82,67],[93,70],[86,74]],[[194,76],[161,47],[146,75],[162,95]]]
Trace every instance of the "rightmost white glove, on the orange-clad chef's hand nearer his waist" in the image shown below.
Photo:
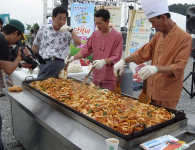
[[[149,76],[154,75],[155,73],[158,72],[158,69],[156,66],[150,66],[150,65],[146,65],[143,68],[141,68],[141,70],[138,72],[139,77],[142,80],[147,79]]]

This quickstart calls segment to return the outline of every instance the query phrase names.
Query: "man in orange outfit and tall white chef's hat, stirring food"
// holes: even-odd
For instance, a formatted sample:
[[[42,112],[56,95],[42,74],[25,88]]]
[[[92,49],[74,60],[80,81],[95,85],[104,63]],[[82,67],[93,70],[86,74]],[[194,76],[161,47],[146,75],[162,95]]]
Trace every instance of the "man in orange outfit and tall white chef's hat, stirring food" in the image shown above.
[[[152,102],[175,109],[183,89],[184,69],[192,50],[191,36],[171,20],[167,0],[141,0],[142,9],[152,27],[153,38],[132,55],[114,65],[121,74],[124,64],[141,64],[151,60],[138,75],[147,79],[147,94]]]

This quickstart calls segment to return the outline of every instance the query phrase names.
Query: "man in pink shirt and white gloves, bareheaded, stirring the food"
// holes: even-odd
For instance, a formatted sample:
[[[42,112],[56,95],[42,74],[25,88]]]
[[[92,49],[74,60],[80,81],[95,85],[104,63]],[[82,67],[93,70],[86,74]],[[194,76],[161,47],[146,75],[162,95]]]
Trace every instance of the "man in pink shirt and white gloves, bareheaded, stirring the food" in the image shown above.
[[[66,58],[66,63],[75,59],[93,55],[93,83],[103,88],[114,90],[116,77],[113,65],[121,59],[123,38],[120,32],[109,26],[108,10],[100,9],[95,13],[95,24],[98,30],[89,37],[86,45],[75,56]]]

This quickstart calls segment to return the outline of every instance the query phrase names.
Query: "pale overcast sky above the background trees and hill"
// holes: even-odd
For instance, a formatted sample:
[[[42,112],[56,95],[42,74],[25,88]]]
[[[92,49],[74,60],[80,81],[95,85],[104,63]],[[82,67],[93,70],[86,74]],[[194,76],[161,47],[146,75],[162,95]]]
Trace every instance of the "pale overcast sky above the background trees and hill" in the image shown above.
[[[48,0],[52,1],[52,0]],[[195,0],[168,0],[168,4],[195,4]],[[18,19],[24,24],[43,24],[42,0],[0,0],[0,14],[10,14],[11,19]]]

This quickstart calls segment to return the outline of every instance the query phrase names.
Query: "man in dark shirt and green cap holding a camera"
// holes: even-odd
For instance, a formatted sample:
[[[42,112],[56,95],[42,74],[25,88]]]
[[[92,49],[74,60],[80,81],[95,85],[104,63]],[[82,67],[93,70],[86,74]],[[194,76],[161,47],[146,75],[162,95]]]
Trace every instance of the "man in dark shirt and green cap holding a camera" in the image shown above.
[[[10,20],[9,24],[5,25],[0,33],[0,71],[3,70],[7,75],[11,75],[18,67],[21,57],[21,50],[18,50],[16,59],[12,62],[9,49],[16,42],[24,38],[24,25],[18,20]],[[23,50],[25,54],[28,50]],[[22,67],[30,68],[31,65],[26,63],[21,64]],[[1,134],[2,120],[0,115],[0,134]],[[3,143],[0,136],[0,149],[3,150]]]

